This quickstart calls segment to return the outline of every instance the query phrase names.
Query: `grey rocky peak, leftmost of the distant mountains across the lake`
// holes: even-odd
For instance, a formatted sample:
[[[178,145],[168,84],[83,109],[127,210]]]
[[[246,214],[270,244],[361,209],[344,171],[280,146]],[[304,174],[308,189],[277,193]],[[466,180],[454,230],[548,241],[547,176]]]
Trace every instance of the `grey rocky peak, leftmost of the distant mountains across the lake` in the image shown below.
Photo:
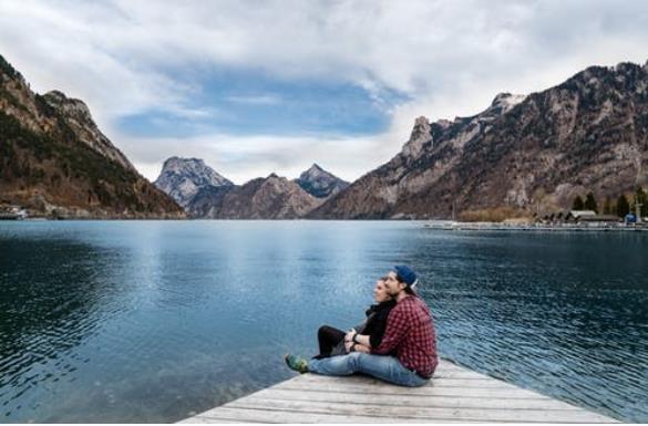
[[[172,196],[185,209],[200,189],[233,185],[199,158],[171,157],[164,162],[160,177],[155,180],[157,188]]]

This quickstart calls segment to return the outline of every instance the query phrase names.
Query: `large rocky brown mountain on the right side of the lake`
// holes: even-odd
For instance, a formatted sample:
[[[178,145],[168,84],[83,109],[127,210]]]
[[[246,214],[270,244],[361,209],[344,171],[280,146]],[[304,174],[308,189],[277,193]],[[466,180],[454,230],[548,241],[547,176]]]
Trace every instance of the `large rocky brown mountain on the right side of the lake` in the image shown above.
[[[471,117],[416,118],[397,156],[309,217],[543,215],[646,184],[647,148],[648,63],[592,66],[528,96],[497,95]]]

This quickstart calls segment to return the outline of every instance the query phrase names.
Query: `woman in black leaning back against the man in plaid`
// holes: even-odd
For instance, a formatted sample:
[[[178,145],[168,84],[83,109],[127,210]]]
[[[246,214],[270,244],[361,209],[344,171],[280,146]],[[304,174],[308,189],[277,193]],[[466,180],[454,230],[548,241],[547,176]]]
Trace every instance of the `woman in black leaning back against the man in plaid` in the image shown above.
[[[354,330],[358,333],[369,335],[371,347],[377,347],[380,345],[382,336],[384,335],[389,312],[395,305],[395,301],[392,300],[392,298],[387,293],[387,288],[384,287],[384,277],[376,281],[376,288],[373,289],[373,300],[376,301],[376,304],[372,304],[367,310],[367,320],[364,320],[364,322],[360,325],[356,326]],[[344,355],[348,352],[371,351],[371,347],[356,343],[348,344],[346,347],[346,332],[329,325],[320,326],[317,332],[319,355],[313,357],[321,360],[328,356]]]

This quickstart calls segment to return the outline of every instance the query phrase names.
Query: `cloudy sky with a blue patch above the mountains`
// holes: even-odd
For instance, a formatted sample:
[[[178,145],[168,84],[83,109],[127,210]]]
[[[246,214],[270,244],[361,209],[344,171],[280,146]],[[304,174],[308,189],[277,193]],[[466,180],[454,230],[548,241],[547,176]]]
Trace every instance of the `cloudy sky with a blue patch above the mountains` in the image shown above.
[[[647,29],[640,0],[0,0],[0,54],[83,100],[151,180],[171,156],[236,184],[313,163],[354,180],[418,116],[646,63]]]

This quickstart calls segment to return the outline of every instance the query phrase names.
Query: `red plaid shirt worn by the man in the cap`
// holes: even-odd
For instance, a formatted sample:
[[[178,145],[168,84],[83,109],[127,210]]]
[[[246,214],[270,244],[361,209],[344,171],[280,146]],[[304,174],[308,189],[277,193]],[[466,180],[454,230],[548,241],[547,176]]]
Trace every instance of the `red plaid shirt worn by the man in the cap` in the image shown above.
[[[379,355],[395,353],[407,368],[431,377],[439,360],[434,322],[425,302],[411,295],[398,302],[387,319],[382,342],[371,352]]]

